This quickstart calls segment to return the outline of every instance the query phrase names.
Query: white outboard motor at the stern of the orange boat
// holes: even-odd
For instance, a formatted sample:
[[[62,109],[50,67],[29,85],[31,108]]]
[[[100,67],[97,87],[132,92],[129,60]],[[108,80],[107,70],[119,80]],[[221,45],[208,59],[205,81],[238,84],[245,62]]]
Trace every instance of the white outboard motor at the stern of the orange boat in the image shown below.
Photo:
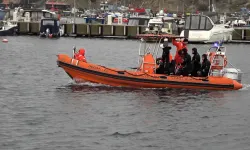
[[[224,68],[223,69],[223,77],[236,80],[239,83],[241,83],[242,74],[243,72],[241,72],[240,69],[236,69],[236,68]]]

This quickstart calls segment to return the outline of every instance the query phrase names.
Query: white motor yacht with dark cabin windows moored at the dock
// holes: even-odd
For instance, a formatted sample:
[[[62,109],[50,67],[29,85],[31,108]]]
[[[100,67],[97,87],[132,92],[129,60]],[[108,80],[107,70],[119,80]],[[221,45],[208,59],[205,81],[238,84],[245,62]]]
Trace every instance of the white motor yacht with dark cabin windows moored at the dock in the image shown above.
[[[190,42],[211,43],[220,40],[229,41],[233,31],[229,25],[220,24],[216,13],[210,13],[187,16],[180,36],[188,38]]]

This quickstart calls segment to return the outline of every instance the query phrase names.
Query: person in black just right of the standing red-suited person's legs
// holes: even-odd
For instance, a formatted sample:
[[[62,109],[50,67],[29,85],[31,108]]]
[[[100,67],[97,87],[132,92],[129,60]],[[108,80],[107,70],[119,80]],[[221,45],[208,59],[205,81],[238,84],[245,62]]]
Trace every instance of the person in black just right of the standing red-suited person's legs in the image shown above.
[[[182,59],[181,68],[178,70],[177,75],[188,76],[192,72],[191,56],[188,54],[187,49],[182,49]]]

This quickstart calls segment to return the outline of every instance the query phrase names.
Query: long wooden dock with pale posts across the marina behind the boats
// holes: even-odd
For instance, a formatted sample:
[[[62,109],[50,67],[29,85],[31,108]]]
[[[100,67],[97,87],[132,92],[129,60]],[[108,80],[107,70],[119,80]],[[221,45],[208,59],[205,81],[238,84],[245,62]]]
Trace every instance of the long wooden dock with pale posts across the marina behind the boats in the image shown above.
[[[145,26],[103,25],[103,24],[62,24],[64,36],[113,37],[135,39],[145,31]],[[19,35],[39,35],[39,22],[18,22]],[[235,27],[231,43],[250,43],[250,27]]]

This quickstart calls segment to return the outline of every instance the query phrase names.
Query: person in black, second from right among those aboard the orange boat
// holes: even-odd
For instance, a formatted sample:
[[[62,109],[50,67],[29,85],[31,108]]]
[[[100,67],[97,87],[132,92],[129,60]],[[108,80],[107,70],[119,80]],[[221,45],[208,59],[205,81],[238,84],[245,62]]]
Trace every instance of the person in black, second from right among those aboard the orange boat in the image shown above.
[[[197,52],[197,48],[193,48],[192,49],[192,72],[191,75],[196,77],[197,76],[197,72],[201,69],[201,57],[200,54]]]

